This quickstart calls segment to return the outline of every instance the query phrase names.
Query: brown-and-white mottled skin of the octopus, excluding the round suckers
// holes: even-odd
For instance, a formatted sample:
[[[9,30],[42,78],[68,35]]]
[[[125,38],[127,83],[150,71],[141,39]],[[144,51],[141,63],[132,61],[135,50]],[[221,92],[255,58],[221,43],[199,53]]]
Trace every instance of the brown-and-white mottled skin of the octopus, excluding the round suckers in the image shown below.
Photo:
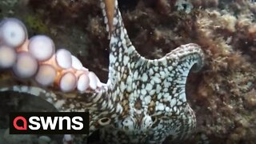
[[[107,11],[101,0],[105,23]],[[11,74],[0,74],[0,90],[28,93],[45,99],[58,111],[90,111],[90,134],[100,130],[106,143],[181,142],[195,128],[194,111],[186,102],[186,78],[193,66],[203,66],[197,44],[179,46],[160,59],[143,58],[135,50],[115,1],[110,30],[109,80],[106,86],[79,94],[65,94],[31,82],[18,85]],[[149,48],[150,50],[150,48]],[[29,84],[30,83],[30,84]],[[32,82],[33,83],[33,82]],[[26,86],[24,86],[26,85]]]

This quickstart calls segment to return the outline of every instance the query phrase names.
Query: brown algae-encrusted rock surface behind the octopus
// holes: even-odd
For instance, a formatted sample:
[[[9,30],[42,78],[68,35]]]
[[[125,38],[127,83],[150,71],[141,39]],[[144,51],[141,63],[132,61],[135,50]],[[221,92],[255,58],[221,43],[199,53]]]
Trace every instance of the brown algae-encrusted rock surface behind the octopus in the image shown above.
[[[198,124],[186,143],[256,141],[256,2],[120,0],[119,7],[142,56],[161,58],[190,42],[206,54],[186,83]],[[0,8],[1,18],[20,18],[30,36],[50,35],[106,82],[109,40],[98,1],[4,0]]]

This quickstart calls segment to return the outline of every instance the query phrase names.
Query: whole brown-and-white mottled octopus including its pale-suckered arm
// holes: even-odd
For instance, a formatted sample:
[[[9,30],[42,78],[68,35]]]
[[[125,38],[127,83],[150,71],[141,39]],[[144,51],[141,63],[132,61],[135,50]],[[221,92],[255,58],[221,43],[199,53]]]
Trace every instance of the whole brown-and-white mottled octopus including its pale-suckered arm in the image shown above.
[[[202,69],[201,47],[189,43],[146,59],[130,42],[117,0],[100,0],[100,6],[110,36],[106,83],[69,51],[55,51],[46,35],[29,39],[21,21],[6,18],[0,24],[0,91],[31,94],[60,112],[88,111],[90,134],[99,130],[106,143],[189,138],[196,118],[186,101],[186,79],[190,70]]]

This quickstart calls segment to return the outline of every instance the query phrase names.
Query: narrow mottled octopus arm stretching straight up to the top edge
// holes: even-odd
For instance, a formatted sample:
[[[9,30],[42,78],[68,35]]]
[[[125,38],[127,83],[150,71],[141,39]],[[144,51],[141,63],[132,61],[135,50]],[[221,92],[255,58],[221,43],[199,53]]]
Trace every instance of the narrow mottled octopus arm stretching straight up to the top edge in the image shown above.
[[[129,74],[130,63],[141,60],[140,54],[130,42],[126,28],[122,22],[122,15],[118,9],[117,0],[100,0],[106,30],[110,33],[110,66],[109,81],[111,89],[120,84],[120,78]],[[113,6],[110,6],[110,3]],[[109,16],[111,15],[111,17]],[[110,23],[112,25],[110,25]]]

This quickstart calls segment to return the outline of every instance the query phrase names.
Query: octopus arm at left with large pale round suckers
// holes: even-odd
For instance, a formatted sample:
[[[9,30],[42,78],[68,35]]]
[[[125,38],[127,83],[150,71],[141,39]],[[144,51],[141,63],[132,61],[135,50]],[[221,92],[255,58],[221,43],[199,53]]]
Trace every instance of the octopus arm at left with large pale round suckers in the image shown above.
[[[0,91],[34,95],[58,111],[89,111],[90,134],[114,122],[110,115],[121,110],[116,110],[108,86],[78,58],[65,49],[55,52],[45,35],[28,39],[26,26],[15,18],[0,23],[0,53]]]

